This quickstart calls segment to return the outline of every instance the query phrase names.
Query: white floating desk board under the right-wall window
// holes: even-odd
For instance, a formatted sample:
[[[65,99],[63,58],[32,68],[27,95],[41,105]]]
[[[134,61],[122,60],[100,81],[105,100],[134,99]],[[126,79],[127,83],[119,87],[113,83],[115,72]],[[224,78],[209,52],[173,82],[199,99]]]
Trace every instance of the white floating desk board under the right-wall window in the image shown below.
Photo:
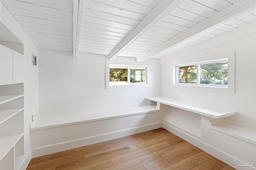
[[[223,117],[227,117],[227,116],[231,116],[231,115],[235,115],[236,111],[214,111],[214,110],[210,110],[210,109],[204,109],[201,107],[195,107],[195,106],[191,106],[191,105],[187,105],[187,104],[183,104],[181,102],[176,102],[176,101],[172,101],[166,97],[163,96],[154,96],[154,97],[146,97],[146,99],[151,100],[151,101],[155,101],[155,102],[159,102],[162,104],[166,104],[168,106],[172,106],[172,107],[177,107],[180,109],[184,109],[187,111],[191,111],[194,113],[198,113],[200,115],[205,115],[208,117],[212,117],[214,119],[220,119]]]

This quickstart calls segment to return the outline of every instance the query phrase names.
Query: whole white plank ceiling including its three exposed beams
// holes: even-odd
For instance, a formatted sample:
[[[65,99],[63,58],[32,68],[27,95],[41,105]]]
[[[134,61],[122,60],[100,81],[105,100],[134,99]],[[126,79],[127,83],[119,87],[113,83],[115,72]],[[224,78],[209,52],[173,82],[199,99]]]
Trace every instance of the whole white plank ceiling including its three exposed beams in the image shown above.
[[[248,24],[255,0],[1,0],[39,49],[162,59]]]

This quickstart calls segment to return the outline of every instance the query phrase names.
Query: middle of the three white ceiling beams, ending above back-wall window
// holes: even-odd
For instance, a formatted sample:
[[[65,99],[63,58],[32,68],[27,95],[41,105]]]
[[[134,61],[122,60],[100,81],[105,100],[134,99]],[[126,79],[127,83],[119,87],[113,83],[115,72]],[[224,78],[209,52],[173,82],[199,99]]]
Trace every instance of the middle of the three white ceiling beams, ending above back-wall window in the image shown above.
[[[110,60],[115,59],[128,45],[153,27],[164,16],[169,14],[176,8],[182,0],[161,0],[150,13],[137,25],[137,27],[127,35],[127,37],[110,53],[108,56]]]

